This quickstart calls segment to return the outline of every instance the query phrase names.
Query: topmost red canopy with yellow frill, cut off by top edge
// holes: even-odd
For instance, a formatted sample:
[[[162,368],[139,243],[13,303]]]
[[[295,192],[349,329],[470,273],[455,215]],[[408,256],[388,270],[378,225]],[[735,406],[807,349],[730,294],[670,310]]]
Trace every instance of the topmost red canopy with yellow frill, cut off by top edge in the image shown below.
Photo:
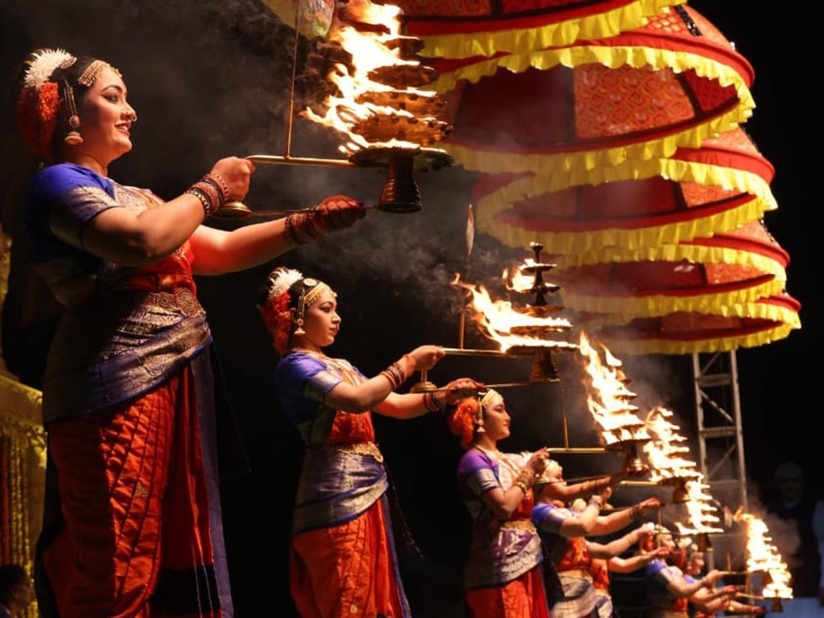
[[[400,0],[406,33],[437,58],[492,56],[603,39],[685,0]]]

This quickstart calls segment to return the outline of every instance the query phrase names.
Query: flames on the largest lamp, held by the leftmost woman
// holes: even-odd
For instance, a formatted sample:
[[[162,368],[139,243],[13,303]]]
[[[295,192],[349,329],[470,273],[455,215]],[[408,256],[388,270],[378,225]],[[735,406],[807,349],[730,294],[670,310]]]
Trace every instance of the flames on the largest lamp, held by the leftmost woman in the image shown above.
[[[346,155],[370,147],[419,147],[420,144],[418,143],[397,138],[391,138],[386,142],[370,142],[363,135],[353,133],[354,124],[370,119],[374,115],[416,118],[408,110],[400,110],[371,102],[357,102],[357,100],[358,96],[363,94],[393,90],[392,87],[386,84],[370,79],[368,74],[372,70],[386,66],[417,67],[420,66],[420,63],[416,60],[401,59],[400,47],[396,46],[392,49],[387,44],[392,40],[403,38],[400,36],[400,7],[391,4],[376,4],[370,2],[370,0],[357,0],[349,2],[346,10],[350,16],[354,16],[362,23],[372,26],[384,26],[389,31],[388,33],[361,31],[336,18],[328,38],[338,42],[352,55],[353,66],[350,68],[342,63],[335,64],[335,70],[330,73],[329,78],[338,87],[340,93],[339,96],[326,97],[324,101],[325,114],[318,115],[307,108],[303,110],[302,115],[313,122],[344,133],[349,142],[341,146],[340,150]],[[421,98],[431,99],[436,96],[433,91],[414,88],[407,88],[405,92]],[[419,119],[424,122],[434,120],[433,117]]]

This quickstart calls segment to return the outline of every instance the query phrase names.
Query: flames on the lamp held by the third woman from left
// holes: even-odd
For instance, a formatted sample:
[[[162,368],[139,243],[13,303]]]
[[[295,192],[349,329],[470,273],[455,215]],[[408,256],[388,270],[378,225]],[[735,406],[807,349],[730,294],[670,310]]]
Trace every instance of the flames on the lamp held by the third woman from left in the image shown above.
[[[627,440],[648,440],[650,437],[644,421],[636,414],[638,407],[629,403],[635,393],[621,380],[623,372],[620,371],[620,361],[609,354],[606,347],[600,347],[606,351],[604,361],[581,331],[578,349],[583,356],[586,372],[587,405],[601,427],[606,446]]]

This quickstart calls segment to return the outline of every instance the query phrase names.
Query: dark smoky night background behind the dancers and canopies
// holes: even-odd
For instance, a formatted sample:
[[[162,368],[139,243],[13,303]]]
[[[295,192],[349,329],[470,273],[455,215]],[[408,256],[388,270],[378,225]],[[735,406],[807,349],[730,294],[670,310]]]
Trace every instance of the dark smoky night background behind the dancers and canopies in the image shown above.
[[[777,169],[772,188],[780,209],[769,213],[766,223],[792,256],[789,293],[803,303],[803,330],[738,353],[753,498],[768,488],[775,466],[788,457],[804,467],[814,489],[822,487],[824,477],[817,453],[821,283],[813,252],[821,208],[815,94],[821,15],[817,8],[810,12],[811,4],[691,2],[756,69],[753,95],[758,107],[747,131]],[[133,129],[133,152],[115,162],[110,175],[172,197],[219,157],[280,152],[291,36],[255,0],[3,2],[0,78],[8,94],[0,96],[0,195],[2,224],[12,235],[14,252],[2,345],[12,371],[34,386],[40,381],[57,307],[26,264],[19,219],[31,170],[16,137],[11,92],[16,67],[27,51],[39,46],[65,46],[120,68],[139,120]],[[335,156],[334,138],[298,121],[293,152]],[[418,344],[456,344],[458,297],[447,281],[461,266],[471,180],[461,169],[421,176],[426,204],[422,213],[374,213],[350,231],[275,260],[328,280],[339,291],[343,330],[330,353],[374,374]],[[381,183],[380,176],[368,171],[261,166],[247,201],[256,208],[297,207],[343,192],[370,202]],[[494,276],[520,255],[479,236],[472,273],[477,279]],[[269,268],[198,281],[253,466],[250,475],[223,488],[224,530],[241,618],[262,612],[286,616],[291,611],[288,531],[302,447],[274,398],[271,372],[277,358],[254,306],[255,290]],[[473,342],[481,343],[471,333]],[[688,359],[628,360],[644,403],[666,401],[691,428]],[[506,382],[527,370],[528,363],[447,358],[433,378],[445,382],[471,373],[489,382]],[[572,440],[594,444],[575,368],[564,363],[564,372]],[[514,435],[502,446],[517,450],[560,444],[557,387],[510,391],[508,402]],[[410,561],[405,575],[413,609],[419,616],[460,616],[460,567],[468,540],[454,475],[460,448],[434,415],[404,424],[377,419],[376,425],[400,503],[425,556]],[[616,465],[610,458],[564,459],[567,475]],[[616,496],[616,503],[622,500]]]

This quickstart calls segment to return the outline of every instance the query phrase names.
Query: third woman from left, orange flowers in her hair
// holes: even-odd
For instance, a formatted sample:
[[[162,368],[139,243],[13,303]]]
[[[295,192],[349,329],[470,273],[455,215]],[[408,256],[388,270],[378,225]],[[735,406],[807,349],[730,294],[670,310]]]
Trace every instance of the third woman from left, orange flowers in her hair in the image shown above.
[[[509,436],[503,397],[489,390],[450,414],[466,453],[458,464],[461,497],[472,519],[464,583],[471,618],[547,618],[541,540],[530,522],[532,485],[547,451],[503,453]]]

